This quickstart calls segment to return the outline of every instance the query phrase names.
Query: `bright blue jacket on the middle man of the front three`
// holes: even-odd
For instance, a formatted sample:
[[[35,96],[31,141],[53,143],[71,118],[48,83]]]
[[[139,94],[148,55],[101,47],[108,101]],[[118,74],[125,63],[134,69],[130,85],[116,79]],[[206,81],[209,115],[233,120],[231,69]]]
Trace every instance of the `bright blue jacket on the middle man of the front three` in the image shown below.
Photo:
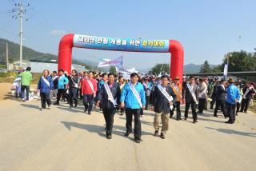
[[[141,83],[137,82],[137,84],[134,85],[134,87],[141,97],[142,105],[145,106],[146,105],[146,96],[145,96],[145,91],[144,91],[143,85]],[[129,108],[129,109],[140,109],[141,108],[133,91],[130,89],[129,84],[126,84],[124,86],[124,88],[122,89],[122,95],[121,95],[120,101],[126,103],[126,108]]]

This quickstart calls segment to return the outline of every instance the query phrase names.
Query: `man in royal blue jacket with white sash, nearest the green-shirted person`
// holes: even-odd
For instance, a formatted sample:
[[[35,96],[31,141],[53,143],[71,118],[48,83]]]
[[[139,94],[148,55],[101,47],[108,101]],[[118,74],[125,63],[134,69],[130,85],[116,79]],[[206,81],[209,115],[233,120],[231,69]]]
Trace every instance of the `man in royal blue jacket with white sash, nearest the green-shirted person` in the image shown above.
[[[50,109],[50,92],[54,89],[54,83],[50,77],[49,70],[43,71],[43,76],[38,82],[38,89],[40,89],[42,109],[46,109],[46,102],[48,105],[47,109]]]

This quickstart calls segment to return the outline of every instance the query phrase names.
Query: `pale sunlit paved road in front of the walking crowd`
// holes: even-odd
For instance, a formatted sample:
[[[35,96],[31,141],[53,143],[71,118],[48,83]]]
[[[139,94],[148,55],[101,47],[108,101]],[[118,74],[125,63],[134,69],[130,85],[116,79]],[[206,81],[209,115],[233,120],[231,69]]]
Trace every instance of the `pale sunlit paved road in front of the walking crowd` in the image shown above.
[[[8,98],[8,97],[7,97]],[[115,115],[113,139],[102,113],[67,105],[40,111],[39,101],[0,101],[0,170],[255,170],[256,116],[241,113],[226,125],[212,111],[194,125],[170,120],[166,140],[154,137],[152,112],[142,117],[141,144],[123,137],[125,117]]]

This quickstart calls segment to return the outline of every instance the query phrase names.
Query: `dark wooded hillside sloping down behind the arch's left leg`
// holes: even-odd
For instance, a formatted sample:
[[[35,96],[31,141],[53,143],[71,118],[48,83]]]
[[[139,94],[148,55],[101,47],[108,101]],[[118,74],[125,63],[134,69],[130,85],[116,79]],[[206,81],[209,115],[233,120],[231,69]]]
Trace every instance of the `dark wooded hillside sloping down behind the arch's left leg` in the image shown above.
[[[19,60],[19,44],[0,38],[0,62],[1,63],[6,62],[6,42],[8,43],[8,49],[9,49],[9,61],[13,62],[13,61]],[[27,60],[35,59],[39,61],[58,60],[58,56],[55,54],[44,54],[44,53],[32,50],[31,48],[28,48],[26,46],[23,46],[22,53],[23,53],[22,56],[24,60],[26,59]],[[78,59],[73,59],[72,63],[84,64],[84,62],[81,62]]]

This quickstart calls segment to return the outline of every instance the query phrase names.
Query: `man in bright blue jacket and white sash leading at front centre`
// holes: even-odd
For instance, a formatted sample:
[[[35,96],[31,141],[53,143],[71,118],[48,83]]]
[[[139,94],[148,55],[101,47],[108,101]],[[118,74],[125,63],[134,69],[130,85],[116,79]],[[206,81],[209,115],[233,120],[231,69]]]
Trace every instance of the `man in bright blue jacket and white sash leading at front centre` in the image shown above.
[[[140,121],[141,109],[145,109],[146,97],[144,87],[138,82],[138,74],[130,74],[130,82],[125,85],[121,95],[121,108],[126,106],[126,133],[128,137],[132,133],[132,121],[134,115],[134,141],[142,141],[142,125]]]

